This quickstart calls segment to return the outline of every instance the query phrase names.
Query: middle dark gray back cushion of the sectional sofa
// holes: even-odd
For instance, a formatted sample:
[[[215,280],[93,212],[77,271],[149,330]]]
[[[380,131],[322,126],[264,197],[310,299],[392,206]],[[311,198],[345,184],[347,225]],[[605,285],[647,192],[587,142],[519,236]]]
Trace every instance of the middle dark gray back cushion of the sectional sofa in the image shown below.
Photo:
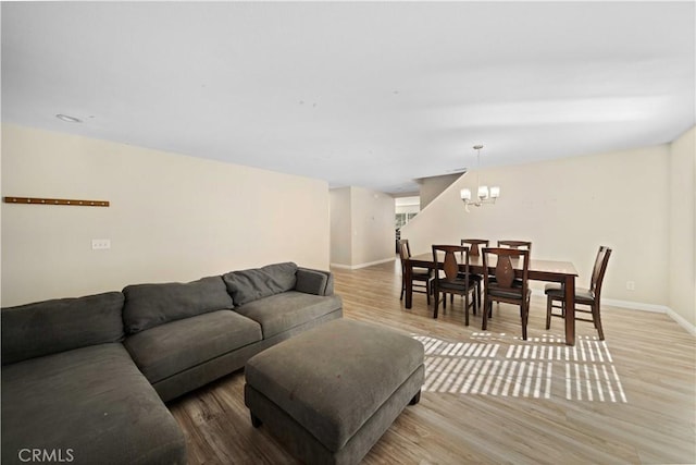
[[[123,290],[123,321],[128,334],[209,311],[232,308],[221,277],[189,283],[134,284]]]

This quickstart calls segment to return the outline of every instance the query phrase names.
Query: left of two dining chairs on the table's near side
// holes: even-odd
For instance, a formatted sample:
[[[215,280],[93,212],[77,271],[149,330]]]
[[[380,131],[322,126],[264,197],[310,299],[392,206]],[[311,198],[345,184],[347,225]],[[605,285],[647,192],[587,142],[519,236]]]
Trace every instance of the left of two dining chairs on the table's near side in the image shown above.
[[[444,254],[444,255],[443,255]],[[457,260],[457,255],[461,258]],[[461,245],[433,245],[433,262],[435,264],[435,310],[433,318],[437,318],[439,297],[446,302],[447,294],[457,294],[464,297],[464,325],[469,326],[469,307],[476,305],[475,282],[469,272],[469,247]],[[463,270],[460,269],[460,262]],[[471,294],[471,303],[469,301]]]

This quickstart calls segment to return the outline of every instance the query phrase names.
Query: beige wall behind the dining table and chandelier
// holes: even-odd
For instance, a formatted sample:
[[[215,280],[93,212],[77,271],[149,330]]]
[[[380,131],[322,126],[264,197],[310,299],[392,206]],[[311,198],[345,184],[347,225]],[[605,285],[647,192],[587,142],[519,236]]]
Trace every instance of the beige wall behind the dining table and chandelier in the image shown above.
[[[669,160],[664,145],[482,170],[482,184],[501,188],[495,206],[471,207],[467,213],[459,191],[475,192],[475,176],[464,175],[401,234],[414,253],[467,236],[531,240],[535,257],[572,261],[583,286],[598,246],[607,245],[613,254],[602,297],[663,307],[669,302]],[[635,282],[635,291],[626,290],[627,281]]]

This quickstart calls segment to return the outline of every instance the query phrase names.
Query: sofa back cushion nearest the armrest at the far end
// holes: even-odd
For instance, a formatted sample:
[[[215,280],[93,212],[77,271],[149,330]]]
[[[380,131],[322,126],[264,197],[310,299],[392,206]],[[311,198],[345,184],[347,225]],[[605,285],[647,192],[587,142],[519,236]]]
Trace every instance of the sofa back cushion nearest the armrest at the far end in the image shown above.
[[[297,265],[291,261],[243,271],[231,271],[222,279],[235,305],[244,305],[295,289]]]

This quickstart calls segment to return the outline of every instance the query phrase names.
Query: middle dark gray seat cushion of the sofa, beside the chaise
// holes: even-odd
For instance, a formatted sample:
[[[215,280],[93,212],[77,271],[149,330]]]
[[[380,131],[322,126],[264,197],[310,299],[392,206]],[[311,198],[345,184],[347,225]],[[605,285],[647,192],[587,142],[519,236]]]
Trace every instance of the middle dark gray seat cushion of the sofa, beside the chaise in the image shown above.
[[[212,311],[128,336],[124,344],[151,383],[261,340],[261,326],[232,310]]]

